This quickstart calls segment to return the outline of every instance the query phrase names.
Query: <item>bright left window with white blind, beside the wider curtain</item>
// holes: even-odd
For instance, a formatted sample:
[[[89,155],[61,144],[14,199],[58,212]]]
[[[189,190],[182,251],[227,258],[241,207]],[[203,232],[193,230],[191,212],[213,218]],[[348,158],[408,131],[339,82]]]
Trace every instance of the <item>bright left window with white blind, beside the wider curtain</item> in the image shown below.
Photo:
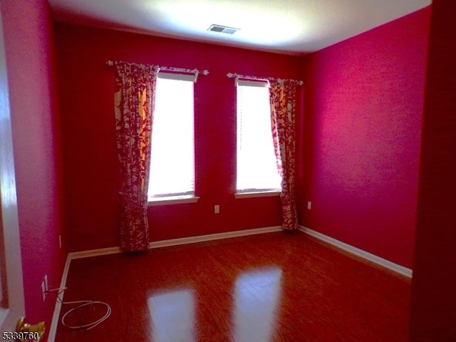
[[[195,197],[193,75],[158,73],[149,202]]]

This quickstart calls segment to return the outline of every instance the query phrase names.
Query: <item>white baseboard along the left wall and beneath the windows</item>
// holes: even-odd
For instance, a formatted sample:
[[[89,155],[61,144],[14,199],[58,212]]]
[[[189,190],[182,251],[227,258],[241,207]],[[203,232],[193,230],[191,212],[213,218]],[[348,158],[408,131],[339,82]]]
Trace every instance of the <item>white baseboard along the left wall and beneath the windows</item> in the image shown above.
[[[264,233],[280,232],[280,231],[281,231],[281,226],[275,226],[275,227],[266,227],[266,228],[257,228],[257,229],[237,230],[235,232],[200,235],[199,237],[183,237],[181,239],[169,239],[169,240],[162,240],[162,241],[157,241],[157,242],[150,242],[149,248],[155,249],[155,248],[162,248],[162,247],[178,246],[180,244],[195,244],[197,242],[205,242],[205,241],[212,241],[212,240],[219,240],[219,239],[229,239],[231,237],[245,237],[247,235],[264,234]],[[88,251],[68,253],[68,257],[66,258],[66,264],[65,264],[65,267],[63,268],[60,288],[62,289],[64,287],[66,287],[66,278],[68,276],[68,271],[70,269],[71,260],[88,258],[88,257],[98,257],[100,255],[118,254],[121,252],[122,252],[122,249],[120,249],[120,247],[110,247],[110,248],[91,249]],[[63,294],[61,294],[61,299],[63,299]],[[54,313],[53,313],[52,321],[51,321],[51,327],[49,328],[48,342],[54,342],[56,339],[58,318],[60,317],[61,307],[62,307],[62,304],[59,301],[56,301],[56,306],[54,307]]]

